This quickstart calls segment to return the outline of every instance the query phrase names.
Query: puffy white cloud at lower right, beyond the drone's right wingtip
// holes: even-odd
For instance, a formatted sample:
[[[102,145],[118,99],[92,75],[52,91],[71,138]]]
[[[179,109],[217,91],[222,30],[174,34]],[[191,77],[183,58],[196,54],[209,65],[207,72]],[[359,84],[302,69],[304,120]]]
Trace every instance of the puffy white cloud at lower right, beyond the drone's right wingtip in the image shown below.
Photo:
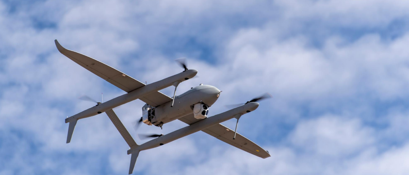
[[[330,157],[347,157],[375,142],[372,128],[357,119],[336,116],[321,117],[299,123],[290,141],[298,149]]]

